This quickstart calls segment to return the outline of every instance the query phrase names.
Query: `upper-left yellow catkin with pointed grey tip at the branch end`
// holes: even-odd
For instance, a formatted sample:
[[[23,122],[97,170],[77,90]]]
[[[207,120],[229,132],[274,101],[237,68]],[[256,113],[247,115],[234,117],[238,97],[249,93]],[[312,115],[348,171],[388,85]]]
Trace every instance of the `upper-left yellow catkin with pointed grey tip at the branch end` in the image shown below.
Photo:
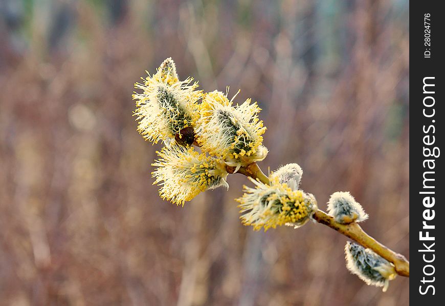
[[[147,72],[148,73],[148,72]],[[135,88],[142,93],[134,93],[136,101],[138,132],[148,141],[162,140],[170,144],[181,130],[196,123],[197,103],[202,92],[195,90],[197,83],[192,78],[179,81],[174,62],[166,59],[157,73],[145,78],[144,83],[136,83]]]

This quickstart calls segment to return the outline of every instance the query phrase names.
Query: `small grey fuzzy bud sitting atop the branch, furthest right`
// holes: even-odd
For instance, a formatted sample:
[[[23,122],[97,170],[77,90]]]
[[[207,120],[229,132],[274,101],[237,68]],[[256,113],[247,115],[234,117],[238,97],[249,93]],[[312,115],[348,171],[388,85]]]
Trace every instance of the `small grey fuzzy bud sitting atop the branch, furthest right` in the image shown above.
[[[342,224],[368,219],[368,214],[349,192],[338,191],[332,193],[327,203],[327,211],[329,216]]]

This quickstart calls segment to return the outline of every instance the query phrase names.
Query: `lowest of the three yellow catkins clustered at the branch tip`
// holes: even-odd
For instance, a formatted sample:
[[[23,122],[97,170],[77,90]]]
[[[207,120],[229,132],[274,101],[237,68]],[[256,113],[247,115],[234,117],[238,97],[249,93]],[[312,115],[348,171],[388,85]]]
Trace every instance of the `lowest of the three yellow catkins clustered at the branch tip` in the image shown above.
[[[229,188],[226,166],[218,159],[177,144],[157,153],[160,159],[152,164],[158,167],[152,172],[156,177],[153,185],[162,186],[159,194],[163,199],[184,206],[200,192],[219,186]]]

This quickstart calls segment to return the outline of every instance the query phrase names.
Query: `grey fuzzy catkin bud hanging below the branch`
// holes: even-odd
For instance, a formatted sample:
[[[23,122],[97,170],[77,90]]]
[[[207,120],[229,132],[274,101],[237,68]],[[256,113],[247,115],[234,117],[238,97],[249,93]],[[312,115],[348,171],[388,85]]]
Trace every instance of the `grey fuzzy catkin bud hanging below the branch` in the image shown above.
[[[357,243],[346,242],[345,254],[348,270],[368,285],[383,287],[383,292],[388,289],[389,281],[397,276],[389,261]]]

